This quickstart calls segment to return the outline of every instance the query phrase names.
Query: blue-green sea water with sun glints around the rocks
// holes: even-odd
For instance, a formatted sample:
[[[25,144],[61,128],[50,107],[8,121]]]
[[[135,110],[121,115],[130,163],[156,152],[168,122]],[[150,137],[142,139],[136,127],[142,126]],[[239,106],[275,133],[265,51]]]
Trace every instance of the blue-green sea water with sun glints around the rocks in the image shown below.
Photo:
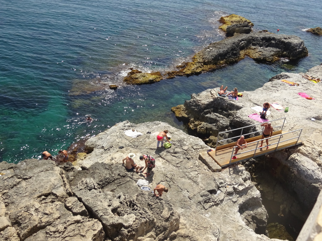
[[[309,9],[309,14],[307,9]],[[235,13],[254,30],[297,35],[309,56],[265,65],[246,58],[199,76],[131,86],[122,78],[134,67],[167,71],[223,39],[217,20]],[[228,85],[254,90],[282,72],[298,73],[322,62],[317,0],[306,1],[1,1],[0,161],[17,163],[56,155],[71,143],[120,121],[165,121],[183,129],[170,109],[192,93]],[[120,87],[74,95],[96,78]],[[71,94],[72,93],[72,94]],[[91,123],[85,121],[90,114]]]

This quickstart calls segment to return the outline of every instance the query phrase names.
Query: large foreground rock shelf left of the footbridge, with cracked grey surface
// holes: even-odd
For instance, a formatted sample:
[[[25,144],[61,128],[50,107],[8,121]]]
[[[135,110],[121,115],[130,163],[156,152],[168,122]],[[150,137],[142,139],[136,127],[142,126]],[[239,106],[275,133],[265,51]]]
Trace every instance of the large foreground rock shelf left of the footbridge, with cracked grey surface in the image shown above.
[[[127,129],[168,129],[174,143],[156,149],[155,135],[130,138]],[[209,148],[201,139],[162,122],[125,121],[86,144],[91,152],[74,165],[0,163],[1,240],[270,240],[250,174],[242,165],[210,170],[199,160]],[[155,157],[147,180],[152,190],[158,183],[169,187],[162,198],[137,186],[142,175],[126,172],[122,159],[129,152]]]

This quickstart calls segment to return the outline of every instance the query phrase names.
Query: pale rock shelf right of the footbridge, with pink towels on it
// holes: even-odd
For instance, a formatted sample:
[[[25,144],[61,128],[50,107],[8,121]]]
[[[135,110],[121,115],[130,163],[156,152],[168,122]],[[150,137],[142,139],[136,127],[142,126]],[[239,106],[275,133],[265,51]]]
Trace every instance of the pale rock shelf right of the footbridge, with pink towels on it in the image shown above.
[[[321,78],[322,66],[313,67],[306,74]],[[271,108],[269,119],[287,117],[284,126],[286,131],[303,128],[301,134],[303,145],[291,149],[292,151],[282,150],[266,155],[265,163],[274,165],[275,176],[283,183],[286,182],[289,190],[293,190],[296,194],[296,201],[292,201],[288,207],[281,210],[305,221],[308,211],[312,209],[322,188],[322,115],[320,111],[322,87],[321,83],[313,83],[302,78],[302,75],[303,73],[281,73],[274,76],[262,88],[243,92],[243,97],[238,101],[218,97],[218,88],[208,89],[199,94],[192,94],[191,100],[176,107],[176,113],[184,113],[185,119],[188,116],[189,127],[208,136],[209,145],[214,146],[218,132],[259,123],[248,118],[249,114],[256,113],[251,107],[262,106],[265,102],[278,102],[284,107],[288,106],[287,113]],[[281,79],[299,83],[299,86],[289,86],[281,82]],[[297,94],[299,92],[310,94],[315,100],[302,98]],[[178,109],[181,109],[180,112]],[[315,121],[311,121],[311,118]],[[259,129],[252,127],[245,132],[255,130]]]

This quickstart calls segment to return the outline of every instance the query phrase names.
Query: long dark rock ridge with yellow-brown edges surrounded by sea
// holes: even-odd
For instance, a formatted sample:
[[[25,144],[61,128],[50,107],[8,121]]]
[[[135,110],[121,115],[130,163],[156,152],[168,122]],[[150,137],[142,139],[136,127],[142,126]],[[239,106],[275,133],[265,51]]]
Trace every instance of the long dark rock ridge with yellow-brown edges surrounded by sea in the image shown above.
[[[211,43],[194,55],[192,62],[182,63],[178,71],[167,72],[161,76],[160,72],[142,73],[132,70],[124,81],[130,84],[144,84],[158,82],[175,76],[198,75],[227,64],[236,63],[246,56],[260,62],[275,62],[279,58],[297,59],[308,55],[303,40],[294,35],[272,34],[257,32],[238,34],[231,38]],[[153,78],[150,76],[156,74]],[[148,81],[146,80],[148,78]]]

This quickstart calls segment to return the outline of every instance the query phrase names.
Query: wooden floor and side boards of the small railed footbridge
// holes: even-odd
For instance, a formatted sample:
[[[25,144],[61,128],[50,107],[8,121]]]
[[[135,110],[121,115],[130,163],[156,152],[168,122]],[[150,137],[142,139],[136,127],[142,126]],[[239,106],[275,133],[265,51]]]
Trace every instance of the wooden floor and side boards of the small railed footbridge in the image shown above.
[[[237,158],[233,159],[231,161],[231,163],[229,163],[229,161],[230,161],[230,158],[232,156],[232,149],[236,145],[236,142],[219,146],[219,147],[216,148],[216,150],[208,152],[208,155],[211,156],[213,158],[213,160],[218,165],[220,165],[221,167],[224,167],[224,166],[227,166],[227,165],[235,164],[235,163],[237,163],[239,161],[242,161],[242,160],[246,160],[246,159],[256,157],[256,156],[265,155],[265,154],[268,154],[270,152],[285,149],[287,147],[295,146],[295,145],[298,145],[298,144],[302,143],[302,141],[300,139],[298,140],[298,138],[294,138],[294,137],[298,136],[296,132],[287,133],[287,134],[284,134],[284,133],[286,133],[286,132],[282,132],[281,130],[274,131],[272,137],[269,139],[269,145],[271,145],[273,143],[277,143],[279,141],[279,136],[280,136],[279,134],[282,134],[279,144],[278,145],[273,144],[273,145],[271,145],[269,147],[269,149],[266,149],[266,147],[265,147],[266,142],[264,140],[263,148],[258,148],[256,150],[256,153],[254,153],[255,150],[250,151],[250,152],[247,152],[247,151],[255,149],[256,146],[260,145],[260,142],[259,143],[255,142],[255,143],[252,143],[252,144],[247,144],[247,148],[243,148],[243,150],[239,150],[237,155],[236,155]],[[255,140],[260,140],[260,138],[261,138],[261,136],[256,136],[256,137],[248,138],[248,139],[246,139],[246,141],[247,141],[247,143],[250,143],[250,142],[253,142]],[[290,138],[294,138],[294,139],[288,140]],[[288,141],[284,141],[284,140],[288,140]],[[282,142],[282,141],[284,141],[284,142]],[[243,153],[243,152],[246,152],[246,153]]]

